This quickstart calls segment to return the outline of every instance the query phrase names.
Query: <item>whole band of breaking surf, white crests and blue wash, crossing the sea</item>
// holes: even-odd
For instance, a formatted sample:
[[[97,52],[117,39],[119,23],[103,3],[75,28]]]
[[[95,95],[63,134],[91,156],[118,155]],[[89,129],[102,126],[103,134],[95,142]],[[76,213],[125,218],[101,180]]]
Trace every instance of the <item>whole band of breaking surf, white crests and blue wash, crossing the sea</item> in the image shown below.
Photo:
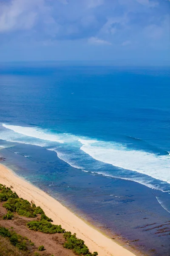
[[[162,191],[170,189],[169,154],[150,153],[128,148],[126,144],[73,134],[54,134],[38,127],[6,124],[0,131],[0,139],[45,147],[69,165],[87,172],[133,180]]]

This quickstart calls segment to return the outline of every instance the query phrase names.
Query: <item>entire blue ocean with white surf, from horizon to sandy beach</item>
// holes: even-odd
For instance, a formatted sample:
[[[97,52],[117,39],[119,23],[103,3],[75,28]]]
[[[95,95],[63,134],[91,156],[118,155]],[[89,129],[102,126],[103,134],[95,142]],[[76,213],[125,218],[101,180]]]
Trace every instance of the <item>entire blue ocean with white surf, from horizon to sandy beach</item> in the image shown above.
[[[108,235],[170,256],[169,226],[153,232],[170,223],[168,68],[0,64],[0,147],[6,166]]]

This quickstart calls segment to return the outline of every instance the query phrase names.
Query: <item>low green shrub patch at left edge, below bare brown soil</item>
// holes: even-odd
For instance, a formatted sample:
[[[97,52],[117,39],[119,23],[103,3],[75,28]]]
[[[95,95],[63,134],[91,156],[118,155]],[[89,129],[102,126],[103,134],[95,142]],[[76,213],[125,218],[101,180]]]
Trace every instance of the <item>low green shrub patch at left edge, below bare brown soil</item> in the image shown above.
[[[8,228],[5,227],[0,227],[0,236],[7,238],[9,242],[13,246],[17,247],[19,250],[28,250],[26,243],[28,239],[25,239],[23,236],[18,235],[15,231],[8,230]]]

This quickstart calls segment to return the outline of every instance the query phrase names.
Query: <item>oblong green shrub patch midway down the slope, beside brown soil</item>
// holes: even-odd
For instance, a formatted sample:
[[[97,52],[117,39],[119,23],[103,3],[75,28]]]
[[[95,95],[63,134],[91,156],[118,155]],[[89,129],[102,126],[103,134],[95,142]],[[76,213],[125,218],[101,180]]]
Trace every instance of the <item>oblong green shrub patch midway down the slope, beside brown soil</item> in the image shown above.
[[[42,221],[30,221],[27,223],[27,227],[30,230],[40,231],[48,234],[64,233],[61,225],[51,224],[49,221],[42,219]]]

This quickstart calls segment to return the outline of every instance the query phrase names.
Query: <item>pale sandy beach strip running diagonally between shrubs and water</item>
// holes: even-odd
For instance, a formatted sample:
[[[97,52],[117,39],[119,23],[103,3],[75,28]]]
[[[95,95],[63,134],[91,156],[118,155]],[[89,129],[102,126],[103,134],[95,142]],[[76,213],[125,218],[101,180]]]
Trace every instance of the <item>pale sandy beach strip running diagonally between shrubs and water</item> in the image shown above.
[[[136,256],[117,244],[112,239],[100,233],[94,227],[88,225],[77,217],[69,209],[52,198],[41,189],[32,185],[23,178],[17,176],[11,169],[0,163],[0,183],[13,186],[13,190],[24,199],[34,201],[37,206],[42,207],[45,214],[52,218],[54,224],[61,224],[62,228],[84,240],[90,251],[97,251],[99,256]]]

